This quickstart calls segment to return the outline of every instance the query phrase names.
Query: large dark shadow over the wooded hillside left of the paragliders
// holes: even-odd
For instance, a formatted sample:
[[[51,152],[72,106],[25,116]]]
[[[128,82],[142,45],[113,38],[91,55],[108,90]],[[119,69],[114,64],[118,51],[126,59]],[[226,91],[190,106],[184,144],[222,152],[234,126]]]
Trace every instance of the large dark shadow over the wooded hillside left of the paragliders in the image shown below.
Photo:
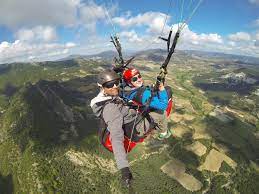
[[[22,151],[30,140],[43,147],[78,144],[88,135],[97,134],[98,120],[90,108],[90,99],[97,92],[94,76],[28,83],[16,95],[6,116],[17,122],[11,134]]]

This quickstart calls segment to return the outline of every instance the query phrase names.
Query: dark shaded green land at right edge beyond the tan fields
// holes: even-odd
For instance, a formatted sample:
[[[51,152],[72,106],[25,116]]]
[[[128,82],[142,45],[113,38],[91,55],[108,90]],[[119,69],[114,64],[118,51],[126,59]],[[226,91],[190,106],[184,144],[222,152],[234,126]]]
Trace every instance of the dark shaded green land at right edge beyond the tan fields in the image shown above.
[[[236,161],[252,160],[259,163],[259,140],[256,139],[254,126],[232,117],[233,120],[222,122],[207,116],[204,122],[207,132],[215,138],[216,143],[226,146],[229,154]]]

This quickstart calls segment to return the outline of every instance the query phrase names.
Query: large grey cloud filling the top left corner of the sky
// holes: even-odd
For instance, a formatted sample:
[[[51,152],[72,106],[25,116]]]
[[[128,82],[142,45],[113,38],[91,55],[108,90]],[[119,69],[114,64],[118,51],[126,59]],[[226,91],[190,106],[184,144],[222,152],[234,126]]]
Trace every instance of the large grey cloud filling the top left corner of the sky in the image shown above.
[[[117,5],[107,10],[112,16]],[[106,21],[106,9],[93,0],[3,0],[0,5],[0,25],[11,29],[35,26],[85,26],[95,30],[97,20]]]

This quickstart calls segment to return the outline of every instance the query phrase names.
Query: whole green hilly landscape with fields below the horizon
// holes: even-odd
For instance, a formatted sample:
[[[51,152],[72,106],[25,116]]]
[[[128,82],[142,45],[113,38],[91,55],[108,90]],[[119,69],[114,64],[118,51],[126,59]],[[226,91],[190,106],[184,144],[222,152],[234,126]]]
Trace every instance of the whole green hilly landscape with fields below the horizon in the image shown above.
[[[152,83],[158,60],[144,54],[134,63]],[[212,82],[223,82],[222,74],[242,66],[228,63],[181,53],[169,64],[173,137],[150,136],[129,154],[130,191],[120,184],[113,155],[98,142],[98,120],[89,107],[98,93],[96,74],[106,62],[78,58],[2,66],[0,193],[256,193],[258,82],[246,95],[215,89]],[[242,72],[257,79],[256,66],[243,66]]]

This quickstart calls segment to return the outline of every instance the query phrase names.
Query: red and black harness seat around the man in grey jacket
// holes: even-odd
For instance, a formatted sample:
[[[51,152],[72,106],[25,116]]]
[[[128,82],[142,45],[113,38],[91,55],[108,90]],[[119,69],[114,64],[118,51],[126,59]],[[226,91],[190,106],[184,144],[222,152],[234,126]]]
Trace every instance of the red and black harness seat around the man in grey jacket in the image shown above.
[[[107,124],[105,123],[103,118],[103,110],[106,104],[108,103],[124,104],[124,105],[127,105],[127,104],[123,103],[122,101],[111,101],[111,100],[98,103],[98,105],[102,105],[101,115],[99,117],[100,118],[100,125],[99,125],[99,132],[98,132],[99,141],[108,151],[113,152],[111,138],[110,138],[110,131],[108,130]],[[149,129],[146,129],[146,125],[144,123],[145,134],[143,136],[139,136],[139,133],[136,131],[136,125],[139,124],[144,119],[147,119],[150,127]],[[154,122],[154,119],[147,112],[137,111],[135,119],[130,123],[123,124],[122,126],[122,130],[124,132],[124,148],[126,153],[130,152],[136,146],[137,143],[143,142],[144,139],[149,134],[149,132],[155,127],[156,127],[156,123]]]

